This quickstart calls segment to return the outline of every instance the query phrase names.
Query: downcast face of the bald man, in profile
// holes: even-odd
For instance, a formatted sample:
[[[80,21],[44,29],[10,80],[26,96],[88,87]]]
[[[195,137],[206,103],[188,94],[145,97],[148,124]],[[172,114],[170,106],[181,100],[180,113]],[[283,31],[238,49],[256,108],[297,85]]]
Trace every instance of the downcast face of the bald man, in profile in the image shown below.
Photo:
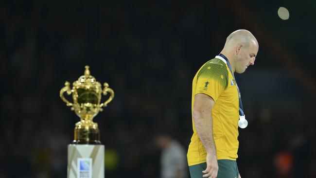
[[[235,71],[237,73],[244,73],[248,66],[254,65],[258,50],[259,45],[254,41],[248,47],[241,48],[240,53],[237,54]]]

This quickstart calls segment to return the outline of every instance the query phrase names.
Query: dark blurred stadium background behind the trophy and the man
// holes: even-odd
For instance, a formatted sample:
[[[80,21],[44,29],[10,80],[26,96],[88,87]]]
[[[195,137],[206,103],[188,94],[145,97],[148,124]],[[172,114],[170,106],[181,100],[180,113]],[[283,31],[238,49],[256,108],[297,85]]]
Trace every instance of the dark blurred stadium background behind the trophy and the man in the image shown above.
[[[154,134],[169,130],[187,149],[193,76],[237,29],[260,45],[255,66],[236,74],[249,122],[242,177],[316,178],[315,9],[314,0],[1,1],[0,178],[66,177],[79,118],[59,90],[85,65],[116,94],[94,119],[105,177],[158,178]]]

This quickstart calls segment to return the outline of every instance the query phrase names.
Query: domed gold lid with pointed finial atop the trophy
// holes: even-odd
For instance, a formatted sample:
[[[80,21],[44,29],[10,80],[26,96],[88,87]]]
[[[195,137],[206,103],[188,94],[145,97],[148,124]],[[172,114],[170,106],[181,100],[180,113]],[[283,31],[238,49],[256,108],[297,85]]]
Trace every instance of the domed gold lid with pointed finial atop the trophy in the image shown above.
[[[77,81],[73,82],[74,88],[98,88],[101,90],[100,82],[97,82],[96,79],[90,74],[89,66],[85,66],[85,75],[82,75],[78,78]]]

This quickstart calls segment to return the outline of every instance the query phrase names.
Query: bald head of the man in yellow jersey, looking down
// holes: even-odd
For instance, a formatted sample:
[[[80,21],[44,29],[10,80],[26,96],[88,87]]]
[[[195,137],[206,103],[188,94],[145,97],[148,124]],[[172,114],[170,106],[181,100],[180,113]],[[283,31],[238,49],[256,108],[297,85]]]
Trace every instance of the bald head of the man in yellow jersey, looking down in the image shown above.
[[[243,73],[249,65],[254,65],[258,50],[255,36],[247,30],[236,30],[227,37],[221,53],[228,57],[233,71]]]

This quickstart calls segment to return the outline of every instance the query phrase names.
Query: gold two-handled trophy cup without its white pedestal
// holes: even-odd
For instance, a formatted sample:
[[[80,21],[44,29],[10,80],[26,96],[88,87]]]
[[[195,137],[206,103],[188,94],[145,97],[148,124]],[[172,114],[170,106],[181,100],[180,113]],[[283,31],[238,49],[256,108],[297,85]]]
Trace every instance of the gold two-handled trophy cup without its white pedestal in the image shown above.
[[[100,82],[90,75],[89,66],[85,68],[85,75],[73,82],[72,89],[70,89],[70,83],[66,81],[65,87],[60,90],[60,98],[80,117],[80,121],[75,124],[72,143],[101,144],[98,124],[92,120],[99,111],[103,110],[102,107],[106,107],[113,100],[114,91],[107,83],[104,83],[104,89],[102,89]],[[68,95],[72,94],[73,103],[64,97],[64,92]],[[107,92],[110,93],[109,98],[101,103],[101,95],[107,95]]]

